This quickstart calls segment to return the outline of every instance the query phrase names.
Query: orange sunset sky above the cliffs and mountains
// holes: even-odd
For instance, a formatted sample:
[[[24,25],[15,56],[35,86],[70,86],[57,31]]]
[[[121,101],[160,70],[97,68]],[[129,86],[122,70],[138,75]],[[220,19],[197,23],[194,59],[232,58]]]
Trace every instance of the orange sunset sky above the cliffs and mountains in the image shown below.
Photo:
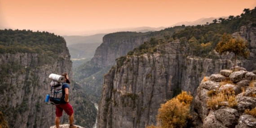
[[[256,0],[0,0],[0,29],[75,35],[240,15],[244,8],[255,6]]]

